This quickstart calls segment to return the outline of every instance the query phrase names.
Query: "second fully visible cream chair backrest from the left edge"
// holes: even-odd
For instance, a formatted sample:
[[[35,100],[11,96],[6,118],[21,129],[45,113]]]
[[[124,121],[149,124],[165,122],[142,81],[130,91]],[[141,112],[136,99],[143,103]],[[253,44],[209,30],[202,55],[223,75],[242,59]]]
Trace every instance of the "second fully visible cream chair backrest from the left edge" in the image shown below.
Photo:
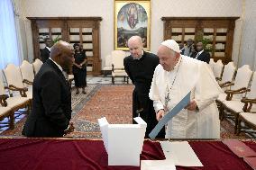
[[[32,64],[30,64],[27,60],[23,60],[23,64],[20,66],[20,69],[23,76],[23,80],[26,79],[32,82],[34,78]]]

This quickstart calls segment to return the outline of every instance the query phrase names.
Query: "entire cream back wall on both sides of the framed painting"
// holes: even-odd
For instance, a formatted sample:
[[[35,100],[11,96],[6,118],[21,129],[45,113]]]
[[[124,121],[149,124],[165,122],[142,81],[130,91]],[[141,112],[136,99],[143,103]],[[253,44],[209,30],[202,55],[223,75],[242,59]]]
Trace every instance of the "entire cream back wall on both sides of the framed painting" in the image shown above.
[[[246,7],[251,9],[248,13],[250,11],[252,13],[253,7],[255,11],[254,0],[249,0],[247,4]],[[254,5],[251,6],[251,4]],[[151,0],[151,51],[156,52],[163,40],[163,22],[160,20],[163,16],[229,17],[241,16],[241,13],[242,0]],[[26,17],[100,16],[103,18],[100,27],[103,64],[105,56],[114,49],[114,0],[23,0],[23,15]],[[237,24],[234,32],[233,58],[235,60],[238,60],[239,48],[237,47],[240,42],[241,26]],[[244,30],[246,28],[244,27]],[[255,30],[255,27],[253,28]],[[31,33],[28,31],[27,34],[30,36]],[[244,39],[247,38],[244,37]],[[250,39],[248,43],[252,44],[252,41]],[[28,44],[32,48],[31,42]]]

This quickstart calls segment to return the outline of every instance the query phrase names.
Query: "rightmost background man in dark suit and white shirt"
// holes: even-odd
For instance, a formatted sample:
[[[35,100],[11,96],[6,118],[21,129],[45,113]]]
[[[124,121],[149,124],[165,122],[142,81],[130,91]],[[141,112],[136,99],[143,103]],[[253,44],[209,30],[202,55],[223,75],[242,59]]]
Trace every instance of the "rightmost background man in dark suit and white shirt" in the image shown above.
[[[210,58],[211,58],[210,53],[204,49],[202,42],[197,42],[197,53],[193,53],[193,55],[191,57],[196,58],[201,61],[204,61],[208,64],[209,64]]]

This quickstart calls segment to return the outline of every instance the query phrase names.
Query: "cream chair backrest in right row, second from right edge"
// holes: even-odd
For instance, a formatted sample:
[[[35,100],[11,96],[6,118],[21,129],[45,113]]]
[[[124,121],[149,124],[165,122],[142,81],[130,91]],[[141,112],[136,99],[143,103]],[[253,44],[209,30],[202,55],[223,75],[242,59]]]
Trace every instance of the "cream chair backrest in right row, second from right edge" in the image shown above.
[[[237,73],[234,79],[234,85],[231,89],[239,89],[242,87],[248,87],[251,80],[252,71],[249,65],[243,65],[237,69]]]

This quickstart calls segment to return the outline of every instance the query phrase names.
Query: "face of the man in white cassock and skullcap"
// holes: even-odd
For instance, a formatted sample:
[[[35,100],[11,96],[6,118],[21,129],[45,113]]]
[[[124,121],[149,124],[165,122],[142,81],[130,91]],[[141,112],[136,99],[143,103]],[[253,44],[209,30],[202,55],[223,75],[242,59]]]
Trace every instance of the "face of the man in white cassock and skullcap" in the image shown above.
[[[178,62],[178,54],[166,46],[161,45],[158,50],[160,65],[166,71],[171,71]]]

